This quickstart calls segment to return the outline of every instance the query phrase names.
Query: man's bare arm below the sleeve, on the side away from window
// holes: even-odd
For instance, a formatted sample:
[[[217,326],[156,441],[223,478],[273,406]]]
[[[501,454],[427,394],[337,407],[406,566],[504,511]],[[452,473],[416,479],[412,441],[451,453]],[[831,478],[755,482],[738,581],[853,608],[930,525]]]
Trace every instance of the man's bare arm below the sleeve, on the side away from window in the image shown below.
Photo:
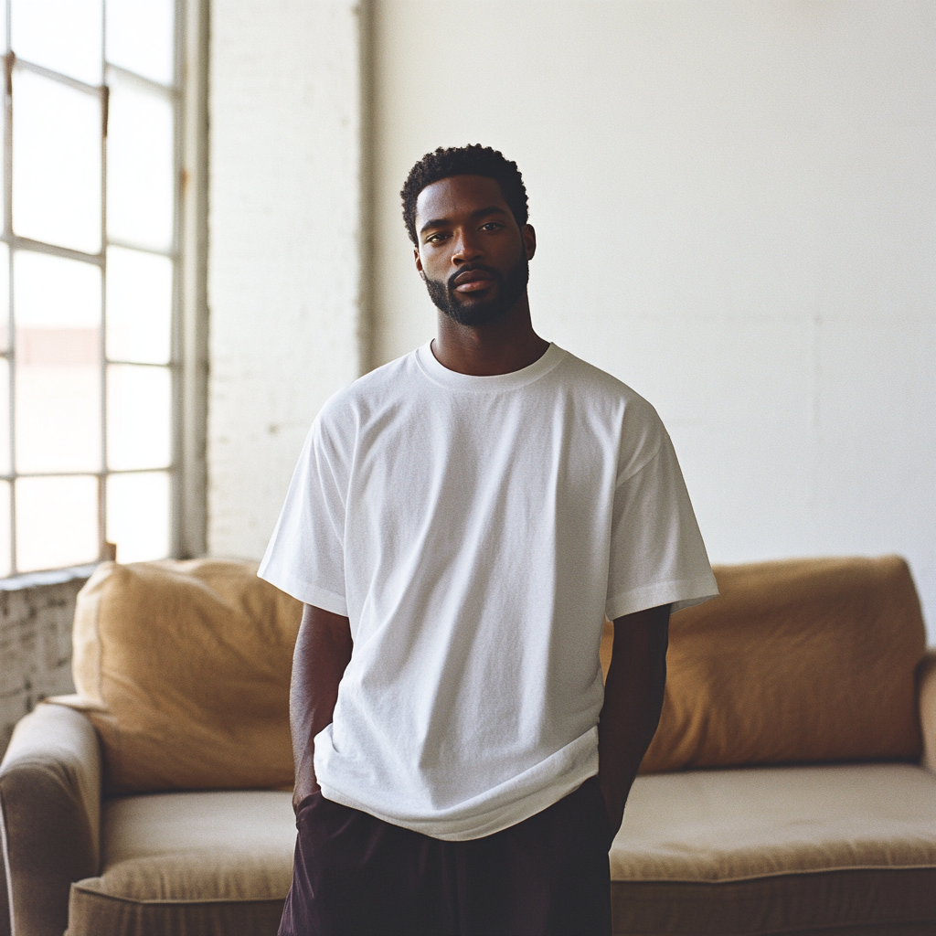
[[[598,723],[598,781],[617,831],[643,755],[660,723],[666,682],[669,605],[614,622],[614,651]]]

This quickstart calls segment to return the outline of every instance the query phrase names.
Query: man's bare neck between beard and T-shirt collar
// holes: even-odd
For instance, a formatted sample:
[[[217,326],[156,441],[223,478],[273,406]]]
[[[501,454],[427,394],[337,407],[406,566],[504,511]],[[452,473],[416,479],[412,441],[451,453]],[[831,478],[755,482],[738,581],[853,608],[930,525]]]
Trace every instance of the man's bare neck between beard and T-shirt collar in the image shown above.
[[[431,346],[435,359],[449,371],[492,377],[529,367],[546,354],[549,343],[534,331],[524,297],[502,318],[476,327],[459,325],[439,312]]]

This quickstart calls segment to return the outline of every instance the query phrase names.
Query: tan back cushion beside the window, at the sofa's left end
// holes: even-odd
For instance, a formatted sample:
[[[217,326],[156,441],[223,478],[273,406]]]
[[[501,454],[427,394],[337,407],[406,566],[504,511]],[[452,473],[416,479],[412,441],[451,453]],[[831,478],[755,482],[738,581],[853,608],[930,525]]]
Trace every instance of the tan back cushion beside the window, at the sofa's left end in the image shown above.
[[[78,596],[72,669],[106,787],[293,782],[289,675],[301,605],[256,563],[103,563]]]

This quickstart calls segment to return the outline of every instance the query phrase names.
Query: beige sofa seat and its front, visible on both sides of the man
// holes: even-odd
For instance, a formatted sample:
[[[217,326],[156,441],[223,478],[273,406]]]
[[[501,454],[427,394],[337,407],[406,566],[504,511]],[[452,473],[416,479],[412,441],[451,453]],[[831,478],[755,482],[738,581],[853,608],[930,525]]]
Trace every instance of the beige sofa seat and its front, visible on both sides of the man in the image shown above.
[[[285,793],[110,800],[104,870],[73,886],[69,936],[272,936],[294,836]],[[611,868],[618,933],[931,932],[936,777],[899,764],[641,777]]]

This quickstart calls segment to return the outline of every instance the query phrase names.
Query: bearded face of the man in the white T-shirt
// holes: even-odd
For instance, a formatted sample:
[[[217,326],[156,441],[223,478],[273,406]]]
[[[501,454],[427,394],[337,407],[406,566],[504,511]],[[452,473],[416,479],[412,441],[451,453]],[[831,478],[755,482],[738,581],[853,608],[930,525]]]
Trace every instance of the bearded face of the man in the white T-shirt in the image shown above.
[[[432,302],[456,322],[492,322],[525,295],[534,230],[518,227],[495,180],[461,175],[427,185],[416,229],[417,270]]]

